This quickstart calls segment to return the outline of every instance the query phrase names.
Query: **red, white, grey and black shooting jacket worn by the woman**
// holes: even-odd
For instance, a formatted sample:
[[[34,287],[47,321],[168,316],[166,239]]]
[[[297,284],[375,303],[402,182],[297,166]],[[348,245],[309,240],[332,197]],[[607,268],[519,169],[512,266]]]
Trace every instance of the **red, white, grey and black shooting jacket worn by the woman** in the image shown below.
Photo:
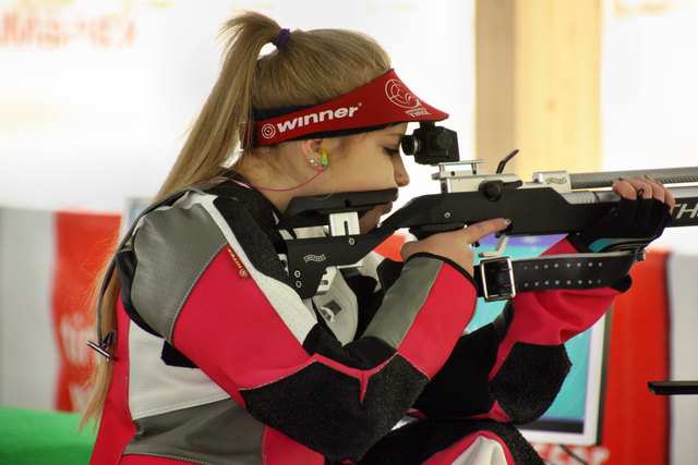
[[[139,221],[117,256],[94,464],[452,463],[482,441],[502,463],[540,461],[510,424],[547,408],[569,368],[562,343],[618,291],[519,294],[464,334],[477,298],[465,270],[418,254],[385,289],[371,255],[303,301],[284,240],[316,231],[279,231],[278,217],[228,180]],[[421,419],[390,432],[408,413]]]

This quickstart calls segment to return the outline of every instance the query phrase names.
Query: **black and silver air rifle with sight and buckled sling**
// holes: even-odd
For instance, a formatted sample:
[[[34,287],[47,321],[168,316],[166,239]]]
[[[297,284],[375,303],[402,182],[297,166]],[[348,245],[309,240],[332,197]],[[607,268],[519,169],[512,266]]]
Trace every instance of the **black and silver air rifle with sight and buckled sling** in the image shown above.
[[[401,148],[418,163],[437,167],[432,179],[440,182],[442,192],[408,200],[368,233],[359,232],[359,217],[392,201],[397,189],[291,199],[279,228],[329,229],[324,237],[286,242],[289,276],[301,297],[326,291],[336,268],[360,266],[364,256],[397,230],[409,229],[423,238],[491,218],[508,218],[512,224],[500,234],[494,252],[480,254],[476,278],[485,299],[512,298],[517,290],[610,285],[641,259],[641,247],[531,260],[512,260],[502,253],[508,236],[570,234],[601,219],[618,203],[610,186],[621,176],[649,175],[667,185],[676,199],[669,227],[698,225],[698,167],[576,174],[550,171],[533,173],[531,182],[524,182],[503,172],[516,151],[502,160],[495,174],[488,174],[478,160],[460,161],[456,133],[433,123],[421,123],[402,139]]]

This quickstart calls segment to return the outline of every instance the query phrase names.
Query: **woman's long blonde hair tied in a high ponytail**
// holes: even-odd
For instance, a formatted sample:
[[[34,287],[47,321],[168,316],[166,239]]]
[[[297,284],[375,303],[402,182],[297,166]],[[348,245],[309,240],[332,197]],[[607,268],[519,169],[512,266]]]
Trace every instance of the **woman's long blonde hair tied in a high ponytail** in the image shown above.
[[[192,124],[189,136],[157,197],[225,175],[236,150],[237,161],[254,157],[246,145],[252,109],[318,105],[359,88],[390,69],[388,54],[371,37],[342,29],[293,30],[277,50],[260,57],[281,27],[272,19],[248,12],[228,21],[218,81]],[[233,166],[234,168],[234,166]],[[121,283],[113,273],[103,297],[101,333],[116,328]],[[99,419],[105,406],[111,363],[98,360],[93,393],[82,424]]]

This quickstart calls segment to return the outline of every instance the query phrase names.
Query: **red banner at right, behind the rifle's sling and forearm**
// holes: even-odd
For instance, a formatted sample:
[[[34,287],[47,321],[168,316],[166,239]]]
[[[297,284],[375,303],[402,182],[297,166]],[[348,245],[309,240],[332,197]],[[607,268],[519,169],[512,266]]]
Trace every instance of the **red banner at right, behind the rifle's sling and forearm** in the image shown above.
[[[669,379],[666,257],[654,250],[636,264],[633,287],[613,305],[603,421],[609,465],[669,460],[669,400],[647,387]]]

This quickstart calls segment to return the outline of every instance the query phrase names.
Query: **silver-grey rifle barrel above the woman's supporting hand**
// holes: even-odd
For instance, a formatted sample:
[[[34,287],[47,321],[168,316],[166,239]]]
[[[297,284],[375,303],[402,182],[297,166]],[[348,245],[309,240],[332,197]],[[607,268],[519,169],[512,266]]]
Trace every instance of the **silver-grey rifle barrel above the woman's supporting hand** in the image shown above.
[[[663,184],[698,182],[698,167],[660,168],[631,171],[602,171],[594,173],[571,173],[571,188],[609,187],[619,178],[650,176]]]

